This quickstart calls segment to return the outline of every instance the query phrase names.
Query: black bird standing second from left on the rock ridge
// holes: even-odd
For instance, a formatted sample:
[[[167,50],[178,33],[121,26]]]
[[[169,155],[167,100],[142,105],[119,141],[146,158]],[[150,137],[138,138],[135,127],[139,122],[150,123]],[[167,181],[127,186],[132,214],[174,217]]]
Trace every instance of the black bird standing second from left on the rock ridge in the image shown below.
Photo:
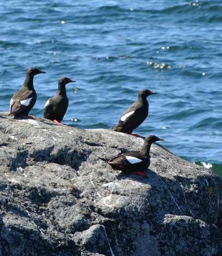
[[[62,77],[59,80],[59,88],[56,95],[45,103],[44,105],[44,118],[54,121],[56,124],[61,125],[61,121],[66,113],[69,105],[69,99],[66,95],[66,84],[69,82],[76,82],[69,77]]]

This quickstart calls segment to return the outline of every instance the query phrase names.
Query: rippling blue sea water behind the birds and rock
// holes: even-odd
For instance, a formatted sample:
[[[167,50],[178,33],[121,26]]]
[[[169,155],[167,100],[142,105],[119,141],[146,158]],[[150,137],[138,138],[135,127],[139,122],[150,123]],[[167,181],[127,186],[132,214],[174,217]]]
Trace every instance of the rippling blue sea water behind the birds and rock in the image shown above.
[[[222,2],[9,0],[0,2],[0,110],[36,66],[43,116],[58,79],[67,85],[64,123],[110,129],[141,88],[149,118],[136,131],[222,175]]]

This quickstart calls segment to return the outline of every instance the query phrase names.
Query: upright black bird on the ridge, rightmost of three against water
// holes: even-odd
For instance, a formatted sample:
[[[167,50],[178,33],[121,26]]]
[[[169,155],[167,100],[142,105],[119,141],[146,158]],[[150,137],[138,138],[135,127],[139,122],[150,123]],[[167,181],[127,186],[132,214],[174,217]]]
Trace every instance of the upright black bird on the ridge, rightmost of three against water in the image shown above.
[[[149,103],[146,97],[151,94],[156,94],[156,92],[141,90],[137,101],[123,113],[118,123],[112,127],[112,130],[132,134],[133,130],[141,125],[149,114]],[[133,135],[140,137],[139,135]]]

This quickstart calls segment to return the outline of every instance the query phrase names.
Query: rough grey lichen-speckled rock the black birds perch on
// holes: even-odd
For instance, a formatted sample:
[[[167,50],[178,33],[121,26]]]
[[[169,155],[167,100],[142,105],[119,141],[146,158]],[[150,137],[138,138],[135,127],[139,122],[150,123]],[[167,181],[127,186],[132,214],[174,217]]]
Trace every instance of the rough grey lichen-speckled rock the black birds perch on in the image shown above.
[[[142,144],[1,113],[0,256],[221,255],[219,177],[157,144],[147,177],[106,164]]]

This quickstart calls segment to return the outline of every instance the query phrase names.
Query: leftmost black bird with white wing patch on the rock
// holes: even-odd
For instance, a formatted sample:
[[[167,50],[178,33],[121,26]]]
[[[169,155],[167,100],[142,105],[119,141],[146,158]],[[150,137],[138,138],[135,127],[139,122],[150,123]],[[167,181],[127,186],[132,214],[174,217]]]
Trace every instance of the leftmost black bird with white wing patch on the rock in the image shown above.
[[[10,101],[9,115],[29,115],[37,99],[37,94],[33,86],[33,78],[35,75],[43,73],[45,72],[35,68],[27,70],[24,84],[13,95]]]

